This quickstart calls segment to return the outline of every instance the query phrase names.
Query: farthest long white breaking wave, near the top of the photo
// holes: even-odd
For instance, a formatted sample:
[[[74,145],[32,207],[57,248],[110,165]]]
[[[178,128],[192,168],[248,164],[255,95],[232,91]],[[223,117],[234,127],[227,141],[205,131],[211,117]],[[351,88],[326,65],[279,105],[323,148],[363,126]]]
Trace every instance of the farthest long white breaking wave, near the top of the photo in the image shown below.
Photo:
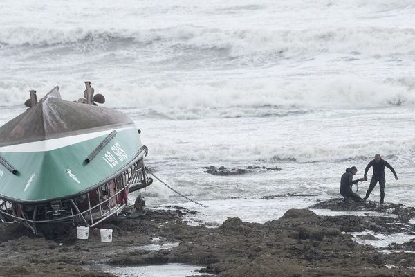
[[[187,47],[224,49],[230,58],[277,55],[285,58],[321,53],[348,53],[382,57],[415,53],[413,28],[322,28],[303,30],[221,29],[199,26],[135,29],[29,28],[0,29],[0,44],[6,46],[53,46],[59,44],[102,44],[148,46],[167,51]]]

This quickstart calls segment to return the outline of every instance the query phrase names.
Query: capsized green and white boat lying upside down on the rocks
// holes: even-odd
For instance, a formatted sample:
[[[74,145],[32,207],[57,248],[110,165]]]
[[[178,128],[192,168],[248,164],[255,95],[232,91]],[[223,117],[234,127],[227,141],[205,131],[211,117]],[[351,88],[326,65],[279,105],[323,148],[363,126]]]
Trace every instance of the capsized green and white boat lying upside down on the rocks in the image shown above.
[[[55,87],[0,127],[0,220],[37,233],[39,224],[95,226],[120,213],[129,193],[147,177],[140,130],[115,109],[98,107],[85,82],[85,98],[62,100]]]

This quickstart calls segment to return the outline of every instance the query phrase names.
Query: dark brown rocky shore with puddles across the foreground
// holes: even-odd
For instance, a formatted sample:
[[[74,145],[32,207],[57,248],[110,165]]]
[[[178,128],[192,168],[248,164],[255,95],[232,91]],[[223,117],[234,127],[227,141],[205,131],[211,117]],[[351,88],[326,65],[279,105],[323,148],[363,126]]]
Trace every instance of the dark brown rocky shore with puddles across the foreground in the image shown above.
[[[313,212],[317,209],[367,215],[320,216]],[[203,273],[223,277],[415,276],[415,241],[375,249],[356,243],[349,234],[415,234],[410,222],[414,208],[332,199],[311,210],[292,209],[264,224],[233,217],[216,228],[185,224],[183,217],[192,211],[183,208],[150,210],[137,219],[118,217],[100,226],[113,229],[113,242],[107,243],[100,242],[98,229],[91,229],[89,240],[77,240],[70,229],[35,236],[17,224],[0,224],[0,276],[113,276],[84,268],[93,263],[172,262],[200,265]],[[157,251],[140,249],[151,243],[176,244]]]

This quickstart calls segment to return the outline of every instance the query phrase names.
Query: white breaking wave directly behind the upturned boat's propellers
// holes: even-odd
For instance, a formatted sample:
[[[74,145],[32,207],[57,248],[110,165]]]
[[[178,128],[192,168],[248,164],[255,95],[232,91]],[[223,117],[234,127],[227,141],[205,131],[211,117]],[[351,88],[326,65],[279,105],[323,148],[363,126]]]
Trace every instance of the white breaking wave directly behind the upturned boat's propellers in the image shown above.
[[[42,97],[56,84],[25,80],[23,84],[0,82],[2,105],[23,105],[29,89],[35,87]],[[384,82],[359,79],[356,76],[316,79],[246,80],[211,84],[136,84],[115,83],[115,80],[94,85],[107,98],[105,107],[139,108],[143,115],[172,119],[205,117],[286,116],[315,109],[356,109],[415,105],[415,78],[388,78]],[[62,97],[77,100],[82,96],[82,82],[66,80]]]

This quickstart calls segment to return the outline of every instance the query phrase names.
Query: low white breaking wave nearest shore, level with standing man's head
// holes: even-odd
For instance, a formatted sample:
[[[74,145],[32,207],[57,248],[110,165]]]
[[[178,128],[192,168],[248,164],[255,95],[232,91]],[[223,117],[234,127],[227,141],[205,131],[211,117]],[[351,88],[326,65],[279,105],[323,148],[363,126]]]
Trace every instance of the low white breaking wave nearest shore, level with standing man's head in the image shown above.
[[[200,145],[199,145],[200,146]],[[241,163],[245,161],[266,163],[316,163],[316,162],[347,162],[370,161],[374,154],[381,153],[385,159],[393,159],[400,163],[414,162],[414,139],[382,141],[380,143],[354,143],[333,147],[320,145],[311,146],[299,144],[291,148],[278,148],[273,145],[252,143],[249,146],[233,145],[232,148],[215,147],[214,149],[185,149],[169,148],[166,145],[154,149],[151,153],[156,160],[183,159],[192,161],[230,161]]]

